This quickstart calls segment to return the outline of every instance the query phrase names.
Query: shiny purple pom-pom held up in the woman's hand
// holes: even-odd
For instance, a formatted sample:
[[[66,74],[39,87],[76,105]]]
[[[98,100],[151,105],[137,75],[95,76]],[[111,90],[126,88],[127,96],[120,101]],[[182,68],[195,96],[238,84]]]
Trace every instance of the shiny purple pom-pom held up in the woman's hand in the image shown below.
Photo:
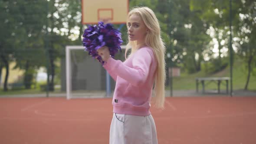
[[[121,51],[121,44],[123,43],[121,33],[114,29],[110,23],[104,25],[103,22],[98,22],[98,26],[89,26],[85,29],[83,37],[85,51],[88,51],[93,58],[97,57],[102,64],[105,62],[98,55],[97,49],[108,46],[111,57],[114,57],[118,50]]]

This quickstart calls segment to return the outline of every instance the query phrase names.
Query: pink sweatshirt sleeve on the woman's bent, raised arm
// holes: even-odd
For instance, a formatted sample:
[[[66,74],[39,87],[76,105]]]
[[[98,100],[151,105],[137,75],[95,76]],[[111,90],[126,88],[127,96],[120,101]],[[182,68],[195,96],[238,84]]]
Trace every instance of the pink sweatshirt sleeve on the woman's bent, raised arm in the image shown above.
[[[132,68],[124,65],[120,60],[115,60],[113,58],[109,58],[103,66],[110,75],[118,75],[131,83],[131,85],[140,86],[141,84],[144,84],[148,78],[153,56],[151,49],[141,48],[138,49],[133,56]]]

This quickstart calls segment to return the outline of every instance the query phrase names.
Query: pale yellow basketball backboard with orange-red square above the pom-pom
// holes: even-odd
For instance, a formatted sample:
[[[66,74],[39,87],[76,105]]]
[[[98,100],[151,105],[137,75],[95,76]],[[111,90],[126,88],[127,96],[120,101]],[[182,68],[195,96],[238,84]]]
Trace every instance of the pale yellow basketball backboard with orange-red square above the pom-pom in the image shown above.
[[[126,23],[129,0],[82,0],[82,23]]]

